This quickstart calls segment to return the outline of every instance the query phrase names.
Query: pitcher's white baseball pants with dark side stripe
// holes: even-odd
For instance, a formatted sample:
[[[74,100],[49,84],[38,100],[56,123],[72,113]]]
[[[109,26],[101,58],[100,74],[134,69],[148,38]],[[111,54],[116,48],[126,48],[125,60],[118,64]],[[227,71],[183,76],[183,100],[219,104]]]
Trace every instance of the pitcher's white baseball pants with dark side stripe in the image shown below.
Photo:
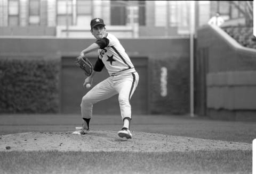
[[[103,80],[94,86],[82,98],[82,118],[92,117],[92,108],[94,103],[108,99],[116,94],[119,94],[118,101],[122,119],[125,117],[131,118],[130,99],[137,88],[138,82],[139,74],[137,72],[110,76],[106,80]]]

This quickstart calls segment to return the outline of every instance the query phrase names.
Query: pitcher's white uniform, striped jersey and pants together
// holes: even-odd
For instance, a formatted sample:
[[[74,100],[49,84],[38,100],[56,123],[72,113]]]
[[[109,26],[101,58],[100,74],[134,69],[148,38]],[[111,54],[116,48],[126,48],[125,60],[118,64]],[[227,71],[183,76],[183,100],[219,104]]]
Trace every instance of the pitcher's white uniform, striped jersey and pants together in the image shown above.
[[[125,53],[119,40],[112,34],[95,41],[99,45],[99,58],[94,65],[94,71],[100,72],[105,66],[109,77],[95,85],[82,98],[81,112],[83,118],[92,117],[94,103],[118,95],[121,117],[132,118],[130,99],[137,88],[139,74]]]

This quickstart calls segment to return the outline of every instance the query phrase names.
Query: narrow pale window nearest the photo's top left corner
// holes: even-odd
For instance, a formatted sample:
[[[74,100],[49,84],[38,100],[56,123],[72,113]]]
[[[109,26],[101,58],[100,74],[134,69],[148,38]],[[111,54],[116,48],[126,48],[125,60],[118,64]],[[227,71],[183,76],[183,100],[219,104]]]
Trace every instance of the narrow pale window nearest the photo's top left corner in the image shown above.
[[[10,0],[8,4],[8,23],[10,26],[19,25],[19,2]]]

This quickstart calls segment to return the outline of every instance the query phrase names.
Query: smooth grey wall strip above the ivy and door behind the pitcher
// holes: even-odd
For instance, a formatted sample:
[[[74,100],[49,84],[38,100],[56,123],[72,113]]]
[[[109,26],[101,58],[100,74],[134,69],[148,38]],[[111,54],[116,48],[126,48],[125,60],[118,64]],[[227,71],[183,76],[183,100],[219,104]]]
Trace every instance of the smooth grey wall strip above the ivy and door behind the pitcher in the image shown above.
[[[189,57],[188,38],[119,39],[129,55],[149,58]],[[0,37],[1,53],[60,53],[62,56],[80,54],[94,39]],[[93,54],[95,55],[95,54]]]

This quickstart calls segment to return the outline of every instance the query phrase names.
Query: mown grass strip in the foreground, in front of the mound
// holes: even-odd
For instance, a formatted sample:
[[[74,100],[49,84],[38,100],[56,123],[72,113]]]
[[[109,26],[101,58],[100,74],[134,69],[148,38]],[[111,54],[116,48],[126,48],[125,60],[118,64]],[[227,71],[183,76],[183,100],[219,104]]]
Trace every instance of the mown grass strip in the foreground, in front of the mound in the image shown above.
[[[1,152],[0,173],[251,173],[251,151]]]

